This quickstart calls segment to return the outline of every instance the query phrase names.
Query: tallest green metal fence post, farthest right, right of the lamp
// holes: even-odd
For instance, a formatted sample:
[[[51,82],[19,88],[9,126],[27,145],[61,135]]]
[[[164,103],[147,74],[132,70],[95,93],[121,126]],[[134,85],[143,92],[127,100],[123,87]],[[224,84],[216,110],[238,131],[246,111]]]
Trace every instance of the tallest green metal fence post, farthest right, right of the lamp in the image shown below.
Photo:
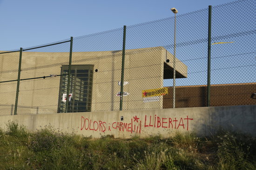
[[[212,6],[209,6],[208,19],[208,68],[207,68],[207,106],[210,107],[210,85],[211,85],[211,15]]]

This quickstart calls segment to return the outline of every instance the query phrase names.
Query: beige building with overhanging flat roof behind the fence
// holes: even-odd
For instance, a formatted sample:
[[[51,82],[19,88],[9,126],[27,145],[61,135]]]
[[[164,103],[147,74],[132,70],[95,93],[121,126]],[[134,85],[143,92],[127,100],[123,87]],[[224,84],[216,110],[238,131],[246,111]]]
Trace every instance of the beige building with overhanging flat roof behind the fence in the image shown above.
[[[3,51],[2,51],[3,52]],[[19,52],[0,54],[0,82],[16,80]],[[169,63],[166,63],[166,60]],[[122,51],[73,52],[70,112],[119,110]],[[20,79],[67,74],[69,52],[22,52]],[[163,47],[125,51],[123,110],[162,108],[163,96],[142,97],[142,91],[163,88],[173,78],[173,55]],[[187,66],[176,59],[176,78]],[[0,83],[0,109],[12,114],[17,82]],[[20,81],[17,114],[64,112],[67,75]]]

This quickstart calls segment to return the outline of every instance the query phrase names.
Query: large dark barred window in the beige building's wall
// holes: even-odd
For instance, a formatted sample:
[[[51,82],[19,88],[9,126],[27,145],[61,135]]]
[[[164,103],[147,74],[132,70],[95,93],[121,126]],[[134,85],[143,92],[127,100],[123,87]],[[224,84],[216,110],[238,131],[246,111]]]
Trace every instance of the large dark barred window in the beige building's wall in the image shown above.
[[[72,65],[70,72],[69,93],[73,94],[71,101],[66,106],[66,101],[62,101],[63,94],[67,94],[68,75],[61,76],[58,113],[67,112],[90,112],[92,101],[94,65]],[[68,74],[68,65],[61,67],[61,75]]]

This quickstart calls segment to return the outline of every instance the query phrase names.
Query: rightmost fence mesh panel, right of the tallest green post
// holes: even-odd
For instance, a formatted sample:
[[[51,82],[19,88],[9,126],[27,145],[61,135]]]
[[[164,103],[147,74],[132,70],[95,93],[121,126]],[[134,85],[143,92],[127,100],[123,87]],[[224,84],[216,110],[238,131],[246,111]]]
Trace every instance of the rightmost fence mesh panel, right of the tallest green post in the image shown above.
[[[212,8],[211,106],[256,104],[255,9],[255,0]]]

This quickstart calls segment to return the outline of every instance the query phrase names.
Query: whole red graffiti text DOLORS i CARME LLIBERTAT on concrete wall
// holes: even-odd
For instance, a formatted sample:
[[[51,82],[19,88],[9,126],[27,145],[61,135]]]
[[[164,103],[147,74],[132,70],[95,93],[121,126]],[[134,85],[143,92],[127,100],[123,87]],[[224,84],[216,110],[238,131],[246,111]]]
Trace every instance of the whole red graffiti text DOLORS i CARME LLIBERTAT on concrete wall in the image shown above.
[[[186,116],[185,118],[167,118],[148,116],[143,117],[144,120],[141,121],[140,117],[134,116],[129,122],[105,122],[102,120],[91,120],[81,116],[81,130],[88,131],[121,131],[130,133],[141,133],[141,127],[144,128],[168,128],[168,129],[187,129],[189,130],[189,123],[192,118]],[[144,123],[142,123],[144,121]]]

